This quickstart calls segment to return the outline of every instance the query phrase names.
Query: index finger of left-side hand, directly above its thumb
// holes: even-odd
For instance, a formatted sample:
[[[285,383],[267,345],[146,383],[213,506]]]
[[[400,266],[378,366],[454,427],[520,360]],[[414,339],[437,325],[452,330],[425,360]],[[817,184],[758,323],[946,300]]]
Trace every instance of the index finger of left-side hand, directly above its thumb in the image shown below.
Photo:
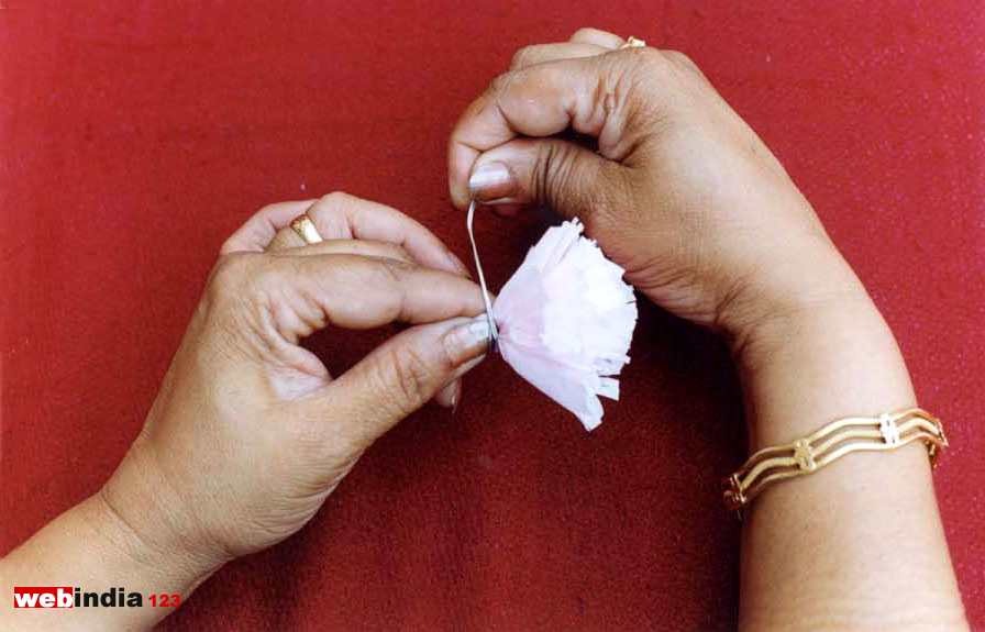
[[[479,287],[458,275],[350,254],[228,259],[210,282],[232,309],[247,306],[251,313],[239,314],[245,322],[290,344],[330,324],[428,323],[477,315],[485,307]]]

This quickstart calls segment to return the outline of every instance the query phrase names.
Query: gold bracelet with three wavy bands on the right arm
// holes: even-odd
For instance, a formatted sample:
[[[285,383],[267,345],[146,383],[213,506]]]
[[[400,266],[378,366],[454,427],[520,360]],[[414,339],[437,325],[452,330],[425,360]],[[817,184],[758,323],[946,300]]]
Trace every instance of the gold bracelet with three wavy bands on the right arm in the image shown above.
[[[927,444],[930,465],[936,466],[937,455],[948,447],[948,437],[940,420],[922,409],[832,421],[810,436],[750,456],[723,480],[726,507],[741,517],[741,510],[774,483],[812,474],[852,452],[896,450],[917,440]]]

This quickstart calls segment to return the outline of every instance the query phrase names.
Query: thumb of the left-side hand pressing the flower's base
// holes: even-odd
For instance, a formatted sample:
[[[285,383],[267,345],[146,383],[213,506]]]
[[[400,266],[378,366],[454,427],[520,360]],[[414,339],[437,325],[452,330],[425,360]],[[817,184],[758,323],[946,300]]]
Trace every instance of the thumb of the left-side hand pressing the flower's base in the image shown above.
[[[324,408],[368,445],[485,357],[486,315],[405,330],[327,385]],[[337,414],[334,414],[337,413]]]

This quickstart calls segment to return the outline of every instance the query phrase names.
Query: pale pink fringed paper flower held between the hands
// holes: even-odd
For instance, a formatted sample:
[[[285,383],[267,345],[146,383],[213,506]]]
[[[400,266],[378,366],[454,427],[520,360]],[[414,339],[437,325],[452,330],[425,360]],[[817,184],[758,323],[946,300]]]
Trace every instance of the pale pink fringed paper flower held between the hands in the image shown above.
[[[637,303],[624,270],[583,230],[578,220],[547,229],[499,292],[492,318],[503,359],[591,430],[601,423],[599,396],[619,399],[611,376],[629,362]]]

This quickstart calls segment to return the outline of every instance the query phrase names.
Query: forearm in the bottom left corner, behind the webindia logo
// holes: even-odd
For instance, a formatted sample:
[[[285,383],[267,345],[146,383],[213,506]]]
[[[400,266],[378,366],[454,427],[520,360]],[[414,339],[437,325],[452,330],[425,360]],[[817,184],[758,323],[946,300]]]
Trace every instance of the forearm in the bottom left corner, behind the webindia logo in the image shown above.
[[[148,630],[184,602],[214,567],[137,534],[99,492],[69,509],[0,561],[3,630]],[[117,607],[13,608],[15,586],[73,587],[102,595],[123,589]],[[140,594],[141,607],[124,606]],[[151,600],[155,598],[156,606]],[[177,598],[171,597],[177,596]],[[73,596],[74,597],[74,596]]]

